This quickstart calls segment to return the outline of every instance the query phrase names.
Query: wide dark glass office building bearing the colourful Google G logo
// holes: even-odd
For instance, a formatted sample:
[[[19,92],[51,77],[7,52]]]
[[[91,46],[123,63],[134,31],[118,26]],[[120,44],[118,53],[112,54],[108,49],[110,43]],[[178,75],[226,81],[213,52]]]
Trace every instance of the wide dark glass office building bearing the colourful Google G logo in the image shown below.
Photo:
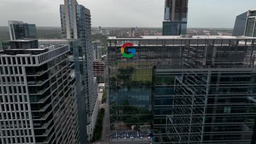
[[[153,133],[154,143],[255,143],[256,38],[108,41],[112,142],[136,125],[139,134]],[[126,43],[133,44],[127,55],[136,50],[131,58],[121,54]]]

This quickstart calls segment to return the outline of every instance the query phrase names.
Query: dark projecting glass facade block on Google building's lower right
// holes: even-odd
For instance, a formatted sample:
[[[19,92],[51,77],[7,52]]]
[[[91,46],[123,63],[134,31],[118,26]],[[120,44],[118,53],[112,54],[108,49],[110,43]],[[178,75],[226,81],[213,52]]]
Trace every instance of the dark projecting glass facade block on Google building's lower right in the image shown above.
[[[156,143],[253,141],[254,68],[155,68],[154,80]]]

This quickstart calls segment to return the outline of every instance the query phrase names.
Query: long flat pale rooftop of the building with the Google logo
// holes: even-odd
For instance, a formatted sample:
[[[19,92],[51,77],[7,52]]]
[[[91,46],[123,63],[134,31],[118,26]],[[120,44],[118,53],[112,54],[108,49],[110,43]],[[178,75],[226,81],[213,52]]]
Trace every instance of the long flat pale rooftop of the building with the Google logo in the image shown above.
[[[108,37],[108,40],[149,40],[149,39],[256,39],[256,37],[232,37],[221,35],[193,35],[191,38],[182,38],[180,35],[168,35],[168,36],[141,36],[141,38],[117,38]]]

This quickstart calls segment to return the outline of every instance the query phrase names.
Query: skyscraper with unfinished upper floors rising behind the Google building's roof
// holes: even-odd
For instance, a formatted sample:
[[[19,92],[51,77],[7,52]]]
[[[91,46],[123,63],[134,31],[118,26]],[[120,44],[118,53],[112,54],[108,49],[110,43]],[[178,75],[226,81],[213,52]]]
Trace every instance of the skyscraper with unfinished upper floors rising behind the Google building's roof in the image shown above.
[[[162,35],[187,34],[188,0],[165,0]]]

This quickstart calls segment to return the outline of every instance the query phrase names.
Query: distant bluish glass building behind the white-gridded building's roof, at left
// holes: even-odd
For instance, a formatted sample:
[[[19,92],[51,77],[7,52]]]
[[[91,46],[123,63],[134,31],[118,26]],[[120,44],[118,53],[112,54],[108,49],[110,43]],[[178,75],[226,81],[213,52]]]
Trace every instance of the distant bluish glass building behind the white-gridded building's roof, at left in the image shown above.
[[[36,25],[22,21],[8,21],[10,39],[36,39]]]

